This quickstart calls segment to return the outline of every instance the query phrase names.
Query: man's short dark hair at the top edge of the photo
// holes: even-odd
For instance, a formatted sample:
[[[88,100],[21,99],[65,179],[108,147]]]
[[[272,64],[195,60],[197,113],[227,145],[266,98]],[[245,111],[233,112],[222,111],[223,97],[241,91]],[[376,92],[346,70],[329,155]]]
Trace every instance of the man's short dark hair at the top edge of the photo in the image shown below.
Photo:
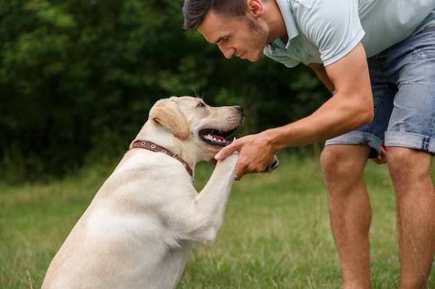
[[[224,17],[244,17],[246,0],[185,0],[184,28],[189,32],[196,30],[210,10]]]

